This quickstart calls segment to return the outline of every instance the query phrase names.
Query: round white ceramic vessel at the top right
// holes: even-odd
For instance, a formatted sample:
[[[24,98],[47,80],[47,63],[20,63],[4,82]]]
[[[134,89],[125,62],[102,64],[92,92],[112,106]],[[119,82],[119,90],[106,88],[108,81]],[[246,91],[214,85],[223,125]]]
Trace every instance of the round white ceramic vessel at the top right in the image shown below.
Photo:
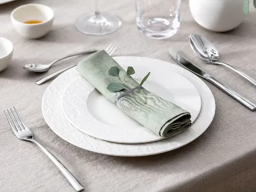
[[[205,29],[223,32],[236,28],[244,17],[244,0],[189,0],[195,21]]]

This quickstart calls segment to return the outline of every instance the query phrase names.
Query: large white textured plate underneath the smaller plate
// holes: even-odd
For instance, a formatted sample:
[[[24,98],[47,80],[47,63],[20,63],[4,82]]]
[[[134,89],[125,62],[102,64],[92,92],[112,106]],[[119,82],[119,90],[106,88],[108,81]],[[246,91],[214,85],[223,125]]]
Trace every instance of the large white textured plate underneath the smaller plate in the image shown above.
[[[119,61],[122,60],[122,58],[124,57],[115,57],[115,60]],[[138,60],[143,60],[145,63],[147,63],[147,61],[149,62],[150,60],[154,60],[151,58],[129,58],[131,58],[131,60],[133,58],[137,58]],[[154,61],[158,62],[159,60]],[[63,140],[66,140],[77,147],[100,154],[129,157],[149,156],[182,147],[198,138],[198,136],[200,136],[211,124],[215,113],[214,97],[206,84],[188,70],[166,61],[162,61],[161,65],[170,65],[172,66],[172,72],[177,72],[186,77],[194,84],[200,93],[202,100],[200,115],[193,125],[188,130],[183,131],[172,138],[150,143],[122,144],[99,140],[76,129],[65,118],[61,107],[61,98],[65,89],[68,84],[77,77],[76,68],[71,68],[67,72],[61,74],[61,76],[52,81],[47,90],[45,90],[44,97],[42,99],[42,113],[45,121],[49,127],[51,127],[52,131],[63,138]]]

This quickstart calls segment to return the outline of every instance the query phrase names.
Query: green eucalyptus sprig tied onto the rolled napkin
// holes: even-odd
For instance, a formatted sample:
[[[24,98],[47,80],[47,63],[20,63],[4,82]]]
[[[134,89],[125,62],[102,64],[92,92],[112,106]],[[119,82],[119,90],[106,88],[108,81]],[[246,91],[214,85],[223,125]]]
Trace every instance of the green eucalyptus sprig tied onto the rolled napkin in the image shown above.
[[[116,67],[116,66],[113,66],[111,68],[109,68],[108,70],[108,74],[110,76],[115,76],[115,77],[118,77],[120,83],[109,83],[108,84],[108,87],[107,89],[110,91],[110,92],[120,92],[122,90],[131,90],[132,88],[129,87],[129,85],[125,84],[127,83],[127,81],[125,81],[125,78],[128,77],[128,76],[132,76],[133,74],[135,74],[135,70],[133,67],[127,67],[127,71],[126,71],[126,76],[124,77],[124,82],[122,81],[122,79],[120,78],[119,76],[119,68]],[[150,72],[148,72],[147,76],[145,76],[142,80],[141,80],[141,83],[139,86],[142,86],[143,83],[145,83],[145,81],[147,81],[148,79],[148,76],[150,75]],[[140,95],[138,95],[138,93],[136,93],[134,91],[134,93],[137,95],[137,97],[140,98],[140,100],[142,102],[144,102],[144,104],[146,104],[146,102],[140,97]]]

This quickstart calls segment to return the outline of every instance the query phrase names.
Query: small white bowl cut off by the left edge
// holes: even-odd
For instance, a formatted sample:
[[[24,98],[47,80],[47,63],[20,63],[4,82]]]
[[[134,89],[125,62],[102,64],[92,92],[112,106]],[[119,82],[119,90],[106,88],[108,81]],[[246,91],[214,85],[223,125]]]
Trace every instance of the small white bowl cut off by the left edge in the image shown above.
[[[13,45],[8,39],[0,37],[0,72],[4,70],[12,60]]]

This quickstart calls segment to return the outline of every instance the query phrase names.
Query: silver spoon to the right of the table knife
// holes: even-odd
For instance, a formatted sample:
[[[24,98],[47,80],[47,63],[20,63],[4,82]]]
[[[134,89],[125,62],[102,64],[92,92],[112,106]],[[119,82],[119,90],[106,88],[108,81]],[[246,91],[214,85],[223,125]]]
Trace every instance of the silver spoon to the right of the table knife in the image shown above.
[[[252,77],[247,76],[243,72],[237,70],[231,65],[228,65],[227,63],[220,62],[219,52],[214,47],[214,45],[212,45],[211,42],[209,42],[209,40],[204,38],[204,36],[201,36],[198,34],[191,34],[189,35],[189,42],[190,42],[191,48],[201,60],[210,64],[224,65],[225,67],[228,67],[234,70],[235,72],[237,72],[237,74],[244,77],[245,79],[247,79],[248,81],[250,81],[252,84],[256,86],[256,81],[252,79]]]

